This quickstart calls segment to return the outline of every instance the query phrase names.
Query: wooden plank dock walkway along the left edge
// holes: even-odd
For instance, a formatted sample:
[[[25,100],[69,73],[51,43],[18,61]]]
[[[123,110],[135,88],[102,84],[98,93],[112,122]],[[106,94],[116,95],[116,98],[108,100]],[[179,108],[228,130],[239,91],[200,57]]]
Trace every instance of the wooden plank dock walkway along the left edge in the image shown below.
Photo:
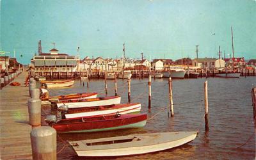
[[[13,81],[21,86],[4,86],[0,91],[0,159],[32,159],[31,126],[28,115],[28,87],[24,81],[28,72],[22,72]]]

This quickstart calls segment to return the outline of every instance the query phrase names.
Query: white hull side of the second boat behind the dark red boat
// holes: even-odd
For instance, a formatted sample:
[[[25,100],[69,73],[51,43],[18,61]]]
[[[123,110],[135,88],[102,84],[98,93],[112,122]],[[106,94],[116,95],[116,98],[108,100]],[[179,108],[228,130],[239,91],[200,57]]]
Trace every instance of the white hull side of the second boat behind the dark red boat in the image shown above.
[[[95,100],[95,101],[89,101],[86,102],[59,102],[56,103],[57,108],[63,105],[67,105],[68,108],[81,108],[81,107],[93,107],[93,106],[106,106],[111,104],[120,104],[121,97],[115,97],[113,99],[102,99],[102,100]]]

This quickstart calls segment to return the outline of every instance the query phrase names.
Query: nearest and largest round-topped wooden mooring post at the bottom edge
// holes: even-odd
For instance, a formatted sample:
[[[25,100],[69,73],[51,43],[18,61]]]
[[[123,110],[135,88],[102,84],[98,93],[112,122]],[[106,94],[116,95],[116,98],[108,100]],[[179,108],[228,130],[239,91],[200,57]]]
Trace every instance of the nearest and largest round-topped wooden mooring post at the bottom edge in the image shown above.
[[[57,159],[57,134],[52,127],[43,126],[30,132],[33,159]]]

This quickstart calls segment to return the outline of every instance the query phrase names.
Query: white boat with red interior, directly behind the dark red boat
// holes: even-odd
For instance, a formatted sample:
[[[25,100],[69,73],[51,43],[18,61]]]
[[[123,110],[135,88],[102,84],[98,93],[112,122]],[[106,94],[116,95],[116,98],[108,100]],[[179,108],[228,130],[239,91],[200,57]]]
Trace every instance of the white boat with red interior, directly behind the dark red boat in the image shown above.
[[[67,108],[66,106],[60,106],[58,108],[63,112],[63,118],[75,118],[83,116],[96,116],[96,115],[113,115],[116,112],[120,114],[138,113],[141,109],[140,103],[129,104],[111,104],[108,106],[95,106],[84,108]]]

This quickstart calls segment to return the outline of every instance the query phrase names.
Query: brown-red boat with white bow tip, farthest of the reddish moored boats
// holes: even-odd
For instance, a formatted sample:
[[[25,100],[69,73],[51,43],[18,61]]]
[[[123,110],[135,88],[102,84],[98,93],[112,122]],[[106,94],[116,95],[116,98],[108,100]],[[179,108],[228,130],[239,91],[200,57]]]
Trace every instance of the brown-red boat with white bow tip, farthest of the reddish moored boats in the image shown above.
[[[97,97],[97,93],[74,93],[74,94],[68,94],[68,95],[52,96],[49,99],[42,99],[42,100],[59,102],[62,100],[93,99],[96,97]]]

